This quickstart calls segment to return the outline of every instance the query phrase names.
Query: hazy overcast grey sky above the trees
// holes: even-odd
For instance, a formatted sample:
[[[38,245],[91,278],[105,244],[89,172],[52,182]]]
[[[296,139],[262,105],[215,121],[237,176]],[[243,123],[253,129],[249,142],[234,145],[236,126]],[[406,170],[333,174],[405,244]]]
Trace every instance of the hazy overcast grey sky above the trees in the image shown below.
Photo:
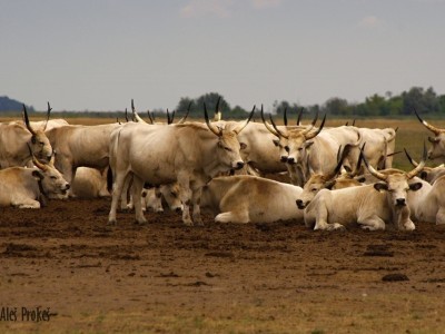
[[[0,96],[38,110],[445,94],[445,0],[0,0]]]

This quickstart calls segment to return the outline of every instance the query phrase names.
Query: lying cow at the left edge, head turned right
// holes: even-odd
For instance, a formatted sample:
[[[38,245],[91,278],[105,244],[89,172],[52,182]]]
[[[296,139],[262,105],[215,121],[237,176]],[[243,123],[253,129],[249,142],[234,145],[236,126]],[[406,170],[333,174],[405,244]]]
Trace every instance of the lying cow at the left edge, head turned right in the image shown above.
[[[0,206],[40,208],[44,197],[60,198],[70,185],[53,166],[42,164],[34,157],[34,168],[9,167],[0,170]]]

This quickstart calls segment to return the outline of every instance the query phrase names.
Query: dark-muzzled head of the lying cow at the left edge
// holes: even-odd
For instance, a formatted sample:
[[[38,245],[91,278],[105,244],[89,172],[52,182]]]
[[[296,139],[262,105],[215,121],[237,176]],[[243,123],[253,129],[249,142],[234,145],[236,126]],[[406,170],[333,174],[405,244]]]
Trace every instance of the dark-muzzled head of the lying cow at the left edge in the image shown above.
[[[32,175],[39,179],[42,193],[49,198],[67,198],[67,191],[70,185],[60,171],[56,169],[53,164],[55,156],[52,155],[48,164],[42,164],[32,156],[32,163],[38,168],[32,171]]]

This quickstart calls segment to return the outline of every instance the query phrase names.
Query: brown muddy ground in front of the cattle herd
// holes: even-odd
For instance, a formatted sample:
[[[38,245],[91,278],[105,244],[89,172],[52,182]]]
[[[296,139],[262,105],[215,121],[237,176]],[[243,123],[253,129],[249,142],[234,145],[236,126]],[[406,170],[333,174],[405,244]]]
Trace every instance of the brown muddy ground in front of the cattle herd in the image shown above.
[[[139,226],[119,213],[108,229],[109,205],[0,209],[1,333],[445,333],[445,226],[328,233],[206,214],[186,227],[175,213]],[[37,307],[49,318],[22,315]]]

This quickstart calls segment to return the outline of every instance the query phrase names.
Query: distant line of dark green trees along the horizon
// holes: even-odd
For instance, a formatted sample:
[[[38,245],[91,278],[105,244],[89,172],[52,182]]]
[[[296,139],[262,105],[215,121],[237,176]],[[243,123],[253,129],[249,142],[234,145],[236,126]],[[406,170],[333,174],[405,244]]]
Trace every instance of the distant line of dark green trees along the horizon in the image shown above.
[[[224,119],[240,119],[245,118],[247,112],[240,106],[231,107],[224,96],[218,92],[205,94],[198,98],[181,98],[175,110],[176,119],[181,118],[187,110],[190,110],[190,118],[202,118],[204,104],[207,106],[209,116],[214,117],[216,104],[220,98],[219,109],[222,111]],[[30,112],[34,111],[32,106],[27,107]],[[260,106],[257,106],[259,110]],[[328,114],[329,116],[346,117],[346,118],[362,118],[362,117],[405,117],[412,116],[414,110],[421,114],[428,114],[429,117],[442,118],[445,117],[445,95],[437,95],[433,87],[424,89],[422,87],[413,87],[408,91],[403,91],[400,95],[393,95],[387,91],[384,96],[375,94],[367,97],[363,102],[348,102],[346,99],[338,97],[328,99],[324,105],[300,106],[288,101],[275,101],[273,105],[274,114],[283,115],[284,110],[295,114],[304,109],[305,112],[319,111]],[[9,99],[8,97],[0,97],[0,112],[2,116],[8,114],[17,115],[22,110],[22,102]],[[44,111],[44,110],[41,110]],[[131,111],[126,116],[123,111],[59,111],[52,112],[53,117],[109,117],[118,118],[125,121],[126,118],[131,119]],[[140,117],[148,119],[147,111],[138,109]],[[165,121],[166,110],[150,110],[151,117],[155,120]]]

